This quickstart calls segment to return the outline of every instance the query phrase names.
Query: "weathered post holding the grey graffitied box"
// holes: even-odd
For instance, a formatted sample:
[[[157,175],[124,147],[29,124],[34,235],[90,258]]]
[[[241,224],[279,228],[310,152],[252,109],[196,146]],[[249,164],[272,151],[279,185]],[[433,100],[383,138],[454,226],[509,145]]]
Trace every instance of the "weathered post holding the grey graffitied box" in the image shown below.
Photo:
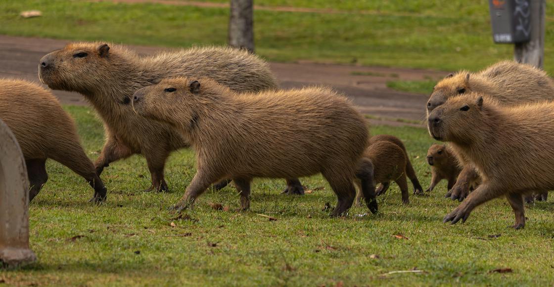
[[[531,13],[531,40],[525,43],[516,43],[514,60],[531,64],[542,69],[545,58],[545,0],[516,0],[515,16],[517,13]]]

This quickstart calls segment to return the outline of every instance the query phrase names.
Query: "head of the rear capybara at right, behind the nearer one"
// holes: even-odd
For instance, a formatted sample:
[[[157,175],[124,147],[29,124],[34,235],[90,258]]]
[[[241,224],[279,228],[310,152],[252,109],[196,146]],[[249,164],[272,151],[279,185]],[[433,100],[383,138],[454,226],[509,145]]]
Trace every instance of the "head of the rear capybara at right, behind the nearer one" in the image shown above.
[[[449,74],[433,88],[429,101],[427,101],[427,115],[446,102],[448,98],[463,95],[469,91],[468,72]]]

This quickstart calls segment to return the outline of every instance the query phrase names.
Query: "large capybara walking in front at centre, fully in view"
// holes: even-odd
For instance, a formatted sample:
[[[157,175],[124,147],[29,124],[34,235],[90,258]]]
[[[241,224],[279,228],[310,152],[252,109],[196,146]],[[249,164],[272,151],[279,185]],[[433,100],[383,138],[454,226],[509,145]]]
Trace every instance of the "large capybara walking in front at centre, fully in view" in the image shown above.
[[[338,197],[332,216],[352,206],[368,128],[350,102],[329,88],[239,94],[212,79],[176,77],[141,88],[133,105],[142,116],[170,124],[196,152],[198,170],[174,207],[178,211],[220,179],[234,181],[246,210],[253,178],[316,173]],[[363,191],[377,212],[375,190]]]

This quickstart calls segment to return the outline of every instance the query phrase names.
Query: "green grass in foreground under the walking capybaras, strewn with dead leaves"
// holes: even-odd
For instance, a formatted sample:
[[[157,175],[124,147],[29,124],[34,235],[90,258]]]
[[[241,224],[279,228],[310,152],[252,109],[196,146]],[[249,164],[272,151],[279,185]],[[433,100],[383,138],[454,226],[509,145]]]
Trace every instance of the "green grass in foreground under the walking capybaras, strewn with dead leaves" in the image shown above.
[[[100,122],[89,108],[67,109],[96,158],[103,141]],[[429,185],[424,157],[433,140],[425,129],[376,126],[371,132],[404,140],[422,185]],[[209,203],[238,208],[238,196],[230,187],[208,191],[189,211],[193,220],[176,220],[166,207],[181,197],[194,174],[190,150],[168,162],[169,193],[141,191],[150,180],[140,156],[110,165],[102,174],[109,194],[101,206],[87,202],[93,191],[67,168],[50,161],[48,170],[50,180],[30,205],[30,245],[38,262],[0,271],[7,284],[514,286],[554,281],[552,200],[527,208],[529,221],[521,231],[507,228],[514,216],[505,200],[479,207],[465,224],[450,226],[441,220],[458,202],[443,198],[444,181],[429,197],[411,196],[409,206],[401,204],[393,184],[378,199],[380,215],[358,216],[368,211],[355,207],[347,217],[329,218],[322,208],[336,199],[318,175],[301,180],[311,190],[324,189],[300,197],[280,195],[282,180],[255,180],[250,212],[213,210]],[[500,237],[489,238],[493,234]],[[424,273],[382,276],[413,268]],[[490,273],[497,268],[514,272]]]

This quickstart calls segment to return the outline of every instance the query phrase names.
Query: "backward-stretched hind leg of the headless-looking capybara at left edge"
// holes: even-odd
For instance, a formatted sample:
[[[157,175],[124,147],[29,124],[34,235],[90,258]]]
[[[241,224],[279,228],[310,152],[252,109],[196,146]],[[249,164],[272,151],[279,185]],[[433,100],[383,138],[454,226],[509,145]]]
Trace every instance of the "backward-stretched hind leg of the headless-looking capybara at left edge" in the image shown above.
[[[94,196],[90,200],[91,202],[104,201],[107,192],[106,186],[104,186],[104,182],[102,182],[98,174],[96,174],[93,163],[91,163],[90,159],[86,156],[81,145],[75,143],[72,147],[65,147],[63,152],[63,154],[52,155],[52,159],[82,176],[86,182],[93,187]]]

